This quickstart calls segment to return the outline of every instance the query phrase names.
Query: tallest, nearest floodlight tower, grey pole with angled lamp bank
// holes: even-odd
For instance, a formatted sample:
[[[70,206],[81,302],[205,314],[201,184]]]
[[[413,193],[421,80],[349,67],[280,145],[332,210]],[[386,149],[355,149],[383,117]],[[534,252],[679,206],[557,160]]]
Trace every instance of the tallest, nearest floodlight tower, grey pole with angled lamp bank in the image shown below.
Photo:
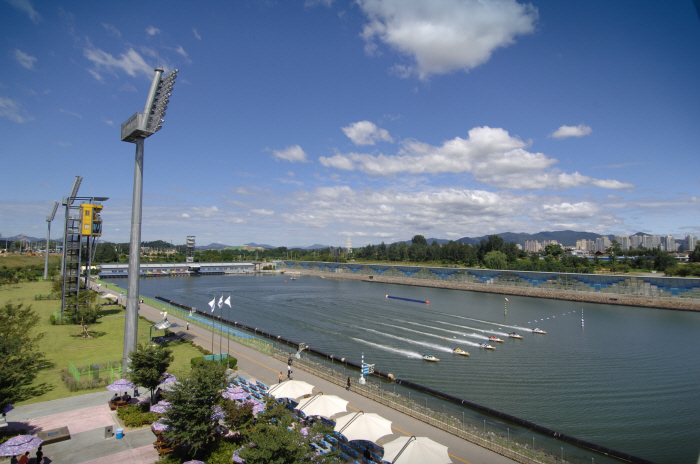
[[[129,353],[136,349],[139,322],[139,271],[141,265],[141,206],[143,204],[143,142],[161,129],[168,107],[170,92],[178,70],[163,77],[163,68],[156,68],[143,112],[136,112],[121,127],[123,142],[136,144],[134,167],[134,197],[131,203],[131,238],[129,240],[129,275],[124,323],[124,354],[122,365],[129,367]]]

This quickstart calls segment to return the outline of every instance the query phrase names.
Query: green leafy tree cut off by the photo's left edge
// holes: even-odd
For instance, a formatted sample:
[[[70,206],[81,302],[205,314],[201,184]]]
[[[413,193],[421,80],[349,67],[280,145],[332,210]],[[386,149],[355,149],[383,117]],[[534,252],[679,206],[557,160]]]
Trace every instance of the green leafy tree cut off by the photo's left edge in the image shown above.
[[[47,383],[32,385],[39,369],[51,367],[38,350],[45,335],[34,333],[38,324],[39,315],[31,306],[8,302],[0,308],[0,411],[53,388]]]

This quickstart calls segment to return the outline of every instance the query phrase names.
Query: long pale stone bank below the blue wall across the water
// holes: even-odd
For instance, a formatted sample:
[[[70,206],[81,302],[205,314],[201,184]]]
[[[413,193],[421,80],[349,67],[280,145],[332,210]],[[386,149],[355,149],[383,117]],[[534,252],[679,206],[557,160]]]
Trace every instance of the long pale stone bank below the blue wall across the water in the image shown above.
[[[400,277],[368,276],[366,274],[338,274],[332,272],[307,271],[297,269],[294,269],[293,272],[300,275],[321,276],[326,279],[361,280],[364,282],[373,283],[411,285],[414,287],[445,288],[449,290],[466,290],[470,292],[499,293],[502,295],[551,298],[555,300],[580,301],[585,303],[674,309],[677,311],[700,311],[700,301],[698,300],[675,300],[670,298],[651,298],[644,296],[619,295],[614,293],[573,292],[570,290],[540,290],[536,288],[508,287],[504,285],[477,285],[463,282],[445,282]]]

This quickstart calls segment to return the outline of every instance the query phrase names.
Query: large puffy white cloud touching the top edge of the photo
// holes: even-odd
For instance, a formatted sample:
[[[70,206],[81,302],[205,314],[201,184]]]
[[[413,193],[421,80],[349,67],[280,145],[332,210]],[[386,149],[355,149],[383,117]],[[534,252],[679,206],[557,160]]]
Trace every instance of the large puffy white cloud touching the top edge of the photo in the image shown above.
[[[404,71],[426,79],[431,74],[470,69],[494,50],[535,30],[537,9],[515,0],[358,0],[369,22],[362,38],[368,54],[379,40],[413,64]]]

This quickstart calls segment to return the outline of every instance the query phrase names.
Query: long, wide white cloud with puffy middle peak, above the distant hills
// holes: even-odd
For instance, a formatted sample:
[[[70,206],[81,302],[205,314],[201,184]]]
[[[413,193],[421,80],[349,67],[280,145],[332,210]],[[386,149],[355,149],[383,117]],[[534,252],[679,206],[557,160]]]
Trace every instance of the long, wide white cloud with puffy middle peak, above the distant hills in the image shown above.
[[[326,167],[360,170],[372,176],[471,173],[479,182],[510,190],[561,190],[585,185],[606,189],[633,187],[616,180],[552,169],[558,162],[556,159],[529,152],[525,150],[527,146],[504,129],[476,127],[469,131],[467,139],[455,137],[439,147],[407,140],[396,155],[338,153],[321,156],[319,162]]]

